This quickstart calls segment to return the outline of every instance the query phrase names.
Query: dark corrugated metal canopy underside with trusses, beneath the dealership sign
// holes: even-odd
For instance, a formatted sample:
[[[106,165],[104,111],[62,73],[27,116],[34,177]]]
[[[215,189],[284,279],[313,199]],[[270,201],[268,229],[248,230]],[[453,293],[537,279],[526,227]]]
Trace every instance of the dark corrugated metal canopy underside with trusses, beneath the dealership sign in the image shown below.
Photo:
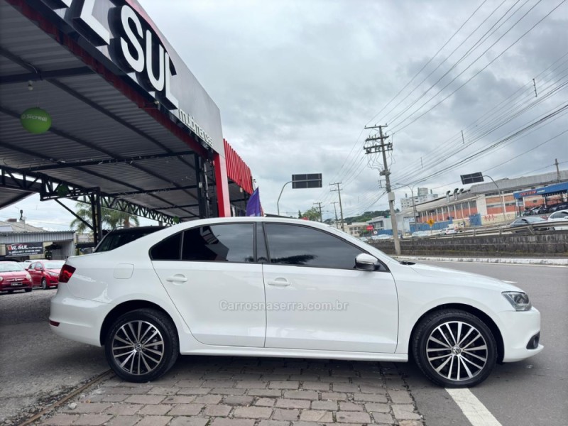
[[[150,115],[155,104],[138,107],[4,0],[0,16],[1,169],[56,185],[98,188],[116,209],[130,203],[138,211],[180,220],[214,210],[207,150],[192,151]],[[20,114],[30,107],[48,111],[50,131],[36,135],[23,129]],[[0,207],[37,190],[17,187],[0,182]],[[239,198],[239,187],[229,185],[229,195]]]

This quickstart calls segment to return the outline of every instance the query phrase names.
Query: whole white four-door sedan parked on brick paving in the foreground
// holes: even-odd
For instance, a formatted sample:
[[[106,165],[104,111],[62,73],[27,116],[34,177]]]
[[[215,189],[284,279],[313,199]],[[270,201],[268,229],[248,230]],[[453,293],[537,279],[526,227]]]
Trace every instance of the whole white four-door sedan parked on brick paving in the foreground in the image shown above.
[[[305,220],[186,222],[67,259],[50,327],[128,381],[178,354],[408,361],[441,386],[538,354],[540,312],[500,280],[399,262]]]

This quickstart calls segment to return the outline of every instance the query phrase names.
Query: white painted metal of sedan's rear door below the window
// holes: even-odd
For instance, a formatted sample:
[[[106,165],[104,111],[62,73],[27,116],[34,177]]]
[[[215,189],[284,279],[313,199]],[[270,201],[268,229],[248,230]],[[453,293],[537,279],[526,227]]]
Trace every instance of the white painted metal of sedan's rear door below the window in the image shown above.
[[[153,261],[153,266],[195,339],[212,345],[263,346],[261,265]],[[253,309],[256,305],[262,309]]]

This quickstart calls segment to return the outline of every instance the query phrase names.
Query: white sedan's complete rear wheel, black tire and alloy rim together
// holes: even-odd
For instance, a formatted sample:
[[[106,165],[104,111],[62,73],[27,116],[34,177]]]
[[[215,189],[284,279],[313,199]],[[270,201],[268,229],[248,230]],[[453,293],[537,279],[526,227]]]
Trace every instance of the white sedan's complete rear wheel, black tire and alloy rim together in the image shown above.
[[[133,310],[112,324],[105,338],[104,353],[116,376],[135,383],[153,381],[178,359],[178,332],[163,312]]]

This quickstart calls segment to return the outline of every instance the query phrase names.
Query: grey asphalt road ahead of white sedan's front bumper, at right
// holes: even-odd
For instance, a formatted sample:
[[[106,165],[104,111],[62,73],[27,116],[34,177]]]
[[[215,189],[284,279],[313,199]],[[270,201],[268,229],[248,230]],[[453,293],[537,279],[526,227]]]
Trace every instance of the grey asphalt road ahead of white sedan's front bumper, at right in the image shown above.
[[[496,366],[471,392],[502,426],[568,425],[568,268],[488,263],[426,262],[513,281],[542,316],[545,346],[525,361]],[[399,364],[428,426],[469,425],[449,393],[432,385],[413,364]]]

